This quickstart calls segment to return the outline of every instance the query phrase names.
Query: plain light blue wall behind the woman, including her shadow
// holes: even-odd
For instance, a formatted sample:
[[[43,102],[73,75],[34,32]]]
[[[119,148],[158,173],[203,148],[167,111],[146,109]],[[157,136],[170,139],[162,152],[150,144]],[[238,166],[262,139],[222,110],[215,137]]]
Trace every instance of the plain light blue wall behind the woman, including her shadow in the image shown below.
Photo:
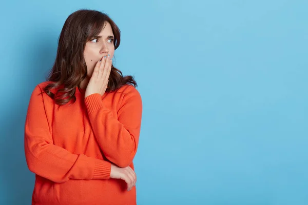
[[[31,92],[78,9],[122,31],[143,98],[138,204],[308,204],[307,1],[7,1],[0,13],[0,204],[30,204]]]

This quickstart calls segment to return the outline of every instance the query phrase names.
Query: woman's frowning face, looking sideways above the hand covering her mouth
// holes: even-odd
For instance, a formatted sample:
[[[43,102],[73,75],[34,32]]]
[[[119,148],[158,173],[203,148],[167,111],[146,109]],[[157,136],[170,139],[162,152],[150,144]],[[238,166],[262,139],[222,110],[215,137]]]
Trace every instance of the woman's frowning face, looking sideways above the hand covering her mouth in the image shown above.
[[[88,73],[87,76],[91,77],[95,64],[102,59],[105,55],[110,55],[113,57],[114,45],[113,45],[114,35],[109,23],[106,23],[105,28],[101,31],[98,36],[93,37],[86,43],[84,50],[84,58],[86,61]]]

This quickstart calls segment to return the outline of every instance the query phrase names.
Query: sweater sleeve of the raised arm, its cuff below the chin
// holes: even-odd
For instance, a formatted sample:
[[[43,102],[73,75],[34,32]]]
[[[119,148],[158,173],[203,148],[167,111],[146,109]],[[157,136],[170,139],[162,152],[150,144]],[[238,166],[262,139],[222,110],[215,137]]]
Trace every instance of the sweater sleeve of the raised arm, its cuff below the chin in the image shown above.
[[[125,89],[118,119],[107,109],[101,95],[85,98],[90,123],[102,152],[119,167],[127,167],[137,152],[141,129],[142,100],[133,86]]]

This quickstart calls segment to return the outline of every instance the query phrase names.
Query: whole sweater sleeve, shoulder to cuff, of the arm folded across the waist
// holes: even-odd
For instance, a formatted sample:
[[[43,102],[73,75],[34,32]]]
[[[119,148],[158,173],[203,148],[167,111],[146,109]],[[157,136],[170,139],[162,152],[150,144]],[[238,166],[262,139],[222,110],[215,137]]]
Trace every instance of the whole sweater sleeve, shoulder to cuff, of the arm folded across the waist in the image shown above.
[[[36,86],[30,97],[25,122],[24,145],[29,170],[58,183],[69,179],[109,179],[110,162],[72,154],[53,145],[40,93],[40,87]]]

